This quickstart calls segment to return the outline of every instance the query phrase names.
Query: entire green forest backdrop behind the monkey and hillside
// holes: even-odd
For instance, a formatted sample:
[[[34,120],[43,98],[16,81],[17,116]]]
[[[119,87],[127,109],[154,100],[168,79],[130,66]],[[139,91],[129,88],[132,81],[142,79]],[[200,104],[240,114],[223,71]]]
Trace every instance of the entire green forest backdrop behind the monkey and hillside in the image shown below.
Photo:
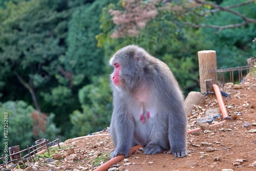
[[[108,127],[108,62],[126,45],[139,45],[166,62],[184,95],[199,91],[198,51],[216,50],[218,68],[244,66],[256,55],[255,23],[196,28],[186,23],[222,26],[243,18],[191,2],[0,0],[0,130],[8,112],[9,146]],[[225,7],[247,1],[208,2]],[[255,8],[253,2],[232,10],[256,19]]]

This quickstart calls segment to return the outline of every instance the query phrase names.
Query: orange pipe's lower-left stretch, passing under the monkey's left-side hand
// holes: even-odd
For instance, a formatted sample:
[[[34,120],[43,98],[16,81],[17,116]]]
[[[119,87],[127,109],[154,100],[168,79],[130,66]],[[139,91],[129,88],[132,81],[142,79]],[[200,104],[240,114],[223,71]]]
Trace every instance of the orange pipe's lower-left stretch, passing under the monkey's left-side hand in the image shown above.
[[[129,155],[133,154],[137,149],[139,149],[140,147],[142,147],[141,145],[136,145],[134,147],[132,147],[130,149],[130,153]],[[121,161],[124,158],[124,155],[118,155],[116,157],[114,157],[113,159],[109,160],[108,162],[105,162],[104,164],[102,164],[101,166],[99,166],[98,168],[96,168],[94,171],[103,171],[103,170],[108,170],[112,165],[118,163],[119,161]]]

